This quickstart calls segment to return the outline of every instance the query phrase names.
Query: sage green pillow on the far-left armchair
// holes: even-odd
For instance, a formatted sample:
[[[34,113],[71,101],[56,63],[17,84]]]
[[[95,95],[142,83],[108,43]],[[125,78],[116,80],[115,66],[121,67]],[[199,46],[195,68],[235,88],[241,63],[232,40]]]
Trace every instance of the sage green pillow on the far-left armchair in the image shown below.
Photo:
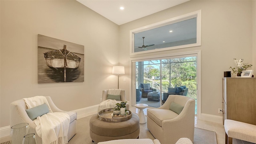
[[[46,105],[46,103],[42,105],[38,105],[36,107],[33,107],[31,109],[26,109],[26,112],[28,114],[28,117],[34,121],[37,117],[40,117],[46,113],[49,113],[49,108]]]

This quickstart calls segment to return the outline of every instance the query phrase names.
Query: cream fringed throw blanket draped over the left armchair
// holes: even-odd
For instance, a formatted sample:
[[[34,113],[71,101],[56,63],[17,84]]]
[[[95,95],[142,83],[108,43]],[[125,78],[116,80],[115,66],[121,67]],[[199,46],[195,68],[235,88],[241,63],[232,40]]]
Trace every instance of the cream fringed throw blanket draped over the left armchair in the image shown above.
[[[52,113],[46,97],[35,96],[24,98],[28,108],[33,108],[46,103],[50,113],[37,117],[34,120],[36,124],[36,133],[42,138],[43,144],[67,144],[68,128],[70,117],[66,113]]]

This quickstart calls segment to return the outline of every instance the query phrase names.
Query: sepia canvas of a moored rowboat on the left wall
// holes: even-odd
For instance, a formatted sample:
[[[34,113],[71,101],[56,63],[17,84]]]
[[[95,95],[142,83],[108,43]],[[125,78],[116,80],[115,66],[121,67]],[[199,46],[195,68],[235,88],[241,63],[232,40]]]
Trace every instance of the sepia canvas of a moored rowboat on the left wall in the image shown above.
[[[38,34],[38,83],[84,82],[84,46]]]

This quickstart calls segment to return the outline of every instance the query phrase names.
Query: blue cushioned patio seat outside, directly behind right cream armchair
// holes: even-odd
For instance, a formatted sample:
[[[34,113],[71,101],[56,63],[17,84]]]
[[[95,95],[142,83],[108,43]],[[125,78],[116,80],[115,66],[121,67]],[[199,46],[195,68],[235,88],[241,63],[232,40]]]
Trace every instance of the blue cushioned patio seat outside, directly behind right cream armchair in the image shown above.
[[[188,88],[186,86],[180,86],[175,88],[168,88],[167,93],[163,93],[163,100],[166,101],[169,95],[184,95],[187,96]]]

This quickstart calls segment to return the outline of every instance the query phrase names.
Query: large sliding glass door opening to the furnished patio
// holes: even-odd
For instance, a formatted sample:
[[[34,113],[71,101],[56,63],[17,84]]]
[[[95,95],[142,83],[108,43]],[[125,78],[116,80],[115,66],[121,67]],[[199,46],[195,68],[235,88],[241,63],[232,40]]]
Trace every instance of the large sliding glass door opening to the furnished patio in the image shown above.
[[[138,60],[134,63],[136,103],[160,107],[173,92],[197,99],[197,56]],[[182,90],[176,91],[177,87]]]

